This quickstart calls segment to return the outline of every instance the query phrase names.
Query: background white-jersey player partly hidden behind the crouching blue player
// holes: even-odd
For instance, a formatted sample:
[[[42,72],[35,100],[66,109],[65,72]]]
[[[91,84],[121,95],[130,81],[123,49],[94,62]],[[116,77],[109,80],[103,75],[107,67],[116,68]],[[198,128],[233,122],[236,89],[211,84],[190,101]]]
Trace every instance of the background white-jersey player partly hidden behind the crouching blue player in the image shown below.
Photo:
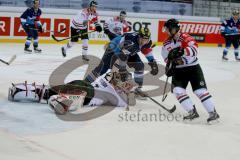
[[[110,40],[118,35],[128,32],[129,26],[125,20],[126,16],[127,13],[121,11],[119,16],[113,17],[104,23],[104,33],[108,35]]]

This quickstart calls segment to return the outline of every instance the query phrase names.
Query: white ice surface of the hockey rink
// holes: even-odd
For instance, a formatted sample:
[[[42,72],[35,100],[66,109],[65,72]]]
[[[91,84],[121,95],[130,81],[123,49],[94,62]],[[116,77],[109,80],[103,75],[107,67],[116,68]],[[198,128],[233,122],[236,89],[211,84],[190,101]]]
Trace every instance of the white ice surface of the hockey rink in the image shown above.
[[[0,58],[17,59],[0,63],[0,159],[2,160],[239,160],[240,157],[240,62],[221,60],[222,48],[200,47],[199,60],[208,89],[213,96],[220,123],[206,124],[208,114],[188,89],[200,118],[183,121],[123,121],[124,108],[88,121],[60,120],[47,104],[8,102],[11,83],[48,84],[50,74],[62,63],[81,53],[81,45],[63,58],[59,44],[42,44],[41,54],[23,53],[23,44],[0,44]],[[103,45],[91,45],[89,53],[98,57]],[[159,63],[161,47],[154,48]],[[82,79],[86,66],[74,70],[65,81]],[[165,80],[165,77],[161,78]],[[144,89],[148,89],[145,87]],[[159,102],[162,97],[154,97]],[[185,112],[169,93],[163,103],[177,105],[173,115]],[[81,108],[87,110],[86,108]],[[128,114],[164,112],[150,100],[138,100]]]

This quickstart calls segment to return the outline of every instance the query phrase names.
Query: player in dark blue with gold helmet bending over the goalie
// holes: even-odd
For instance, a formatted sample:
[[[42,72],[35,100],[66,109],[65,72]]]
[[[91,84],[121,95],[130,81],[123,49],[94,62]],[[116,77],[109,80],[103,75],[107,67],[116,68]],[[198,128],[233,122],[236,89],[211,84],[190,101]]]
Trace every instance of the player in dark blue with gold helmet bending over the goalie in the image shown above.
[[[126,65],[134,68],[134,80],[138,84],[137,91],[141,91],[143,85],[144,64],[138,52],[145,55],[151,66],[151,74],[158,74],[158,65],[152,53],[151,33],[148,28],[142,28],[139,32],[125,33],[114,38],[107,47],[101,63],[86,77],[85,80],[93,82],[97,77],[103,75],[112,68],[115,61],[119,60],[119,71],[122,80],[127,79]]]

